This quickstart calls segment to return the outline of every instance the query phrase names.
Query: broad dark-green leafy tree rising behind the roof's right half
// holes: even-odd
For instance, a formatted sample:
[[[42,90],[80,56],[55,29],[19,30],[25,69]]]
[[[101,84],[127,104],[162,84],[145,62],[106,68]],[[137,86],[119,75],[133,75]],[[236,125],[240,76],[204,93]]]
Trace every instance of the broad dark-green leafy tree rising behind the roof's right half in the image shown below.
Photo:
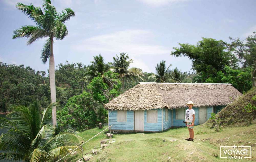
[[[212,38],[202,38],[196,45],[180,44],[180,48],[174,47],[171,55],[187,56],[192,60],[192,69],[200,74],[194,82],[214,82],[218,71],[225,66],[238,68],[238,59],[230,51],[227,51],[227,43]],[[208,79],[210,78],[210,79]]]

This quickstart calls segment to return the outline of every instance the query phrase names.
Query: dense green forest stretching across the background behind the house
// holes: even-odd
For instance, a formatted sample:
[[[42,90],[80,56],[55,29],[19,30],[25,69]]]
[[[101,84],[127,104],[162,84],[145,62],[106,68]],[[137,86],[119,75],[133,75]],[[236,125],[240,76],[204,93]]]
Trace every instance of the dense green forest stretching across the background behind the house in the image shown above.
[[[248,40],[252,38],[255,40],[255,33]],[[175,47],[171,55],[190,58],[192,72],[182,72],[167,65],[165,60],[156,64],[155,73],[142,72],[130,68],[133,60],[127,53],[116,55],[108,63],[97,55],[89,65],[68,61],[58,64],[55,70],[58,126],[63,130],[84,130],[99,122],[106,123],[108,112],[103,105],[139,82],[231,83],[243,93],[253,86],[255,66],[251,60],[255,57],[255,47],[249,52],[248,49],[255,43],[247,45],[247,42],[248,48],[241,49],[239,38],[230,40],[228,44],[202,38],[196,45]],[[242,67],[238,66],[239,62]],[[50,104],[49,75],[45,71],[1,62],[0,76],[1,112],[12,111],[11,104],[29,105],[35,100],[42,108]]]

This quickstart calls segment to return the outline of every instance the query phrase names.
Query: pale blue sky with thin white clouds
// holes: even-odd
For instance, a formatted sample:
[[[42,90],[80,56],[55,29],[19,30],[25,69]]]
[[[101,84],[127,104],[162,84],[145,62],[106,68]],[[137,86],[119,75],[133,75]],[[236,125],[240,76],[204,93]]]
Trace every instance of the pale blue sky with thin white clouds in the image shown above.
[[[42,8],[41,0],[0,0],[0,61],[24,64],[40,71],[49,69],[49,61],[40,60],[45,39],[27,45],[27,39],[12,39],[13,31],[35,25],[15,5],[32,3]],[[55,40],[55,65],[81,62],[89,65],[101,54],[105,62],[121,52],[134,62],[131,67],[155,72],[165,60],[191,71],[187,57],[170,56],[178,43],[195,45],[202,37],[230,42],[229,37],[244,39],[256,31],[255,0],[54,0],[57,12],[71,8],[75,16],[66,21],[68,35]]]

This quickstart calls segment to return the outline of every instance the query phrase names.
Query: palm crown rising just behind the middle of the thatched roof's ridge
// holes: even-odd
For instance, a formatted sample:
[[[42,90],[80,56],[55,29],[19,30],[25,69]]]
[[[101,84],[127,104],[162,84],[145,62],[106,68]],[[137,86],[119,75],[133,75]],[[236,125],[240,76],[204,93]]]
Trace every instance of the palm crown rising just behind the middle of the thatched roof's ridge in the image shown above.
[[[165,61],[162,60],[160,61],[160,64],[157,63],[156,65],[156,74],[152,74],[150,76],[148,76],[148,79],[154,78],[155,82],[178,82],[176,81],[173,76],[171,75],[169,68],[170,66],[172,66],[172,64],[170,64],[167,68],[165,65]]]

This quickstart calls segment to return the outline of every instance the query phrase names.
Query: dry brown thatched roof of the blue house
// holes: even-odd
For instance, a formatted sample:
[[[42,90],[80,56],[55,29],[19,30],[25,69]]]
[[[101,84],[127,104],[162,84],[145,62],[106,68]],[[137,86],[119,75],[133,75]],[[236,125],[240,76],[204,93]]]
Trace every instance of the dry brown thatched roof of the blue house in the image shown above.
[[[145,83],[140,82],[109,103],[109,110],[150,110],[167,107],[187,107],[188,101],[194,106],[228,105],[242,95],[231,84],[215,83]]]

